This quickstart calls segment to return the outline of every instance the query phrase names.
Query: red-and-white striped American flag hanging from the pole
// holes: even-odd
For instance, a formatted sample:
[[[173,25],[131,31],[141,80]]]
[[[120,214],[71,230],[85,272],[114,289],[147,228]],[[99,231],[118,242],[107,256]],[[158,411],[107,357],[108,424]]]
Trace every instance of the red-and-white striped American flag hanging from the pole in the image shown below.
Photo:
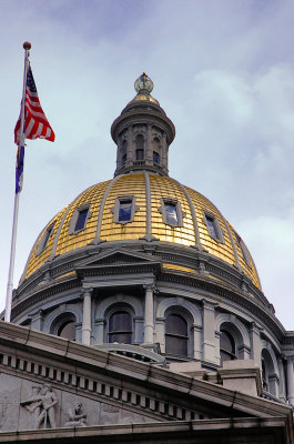
[[[14,129],[14,142],[17,144],[20,142],[20,122],[21,117],[19,117]],[[40,104],[30,64],[27,74],[23,132],[26,139],[41,138],[53,142],[55,138]]]

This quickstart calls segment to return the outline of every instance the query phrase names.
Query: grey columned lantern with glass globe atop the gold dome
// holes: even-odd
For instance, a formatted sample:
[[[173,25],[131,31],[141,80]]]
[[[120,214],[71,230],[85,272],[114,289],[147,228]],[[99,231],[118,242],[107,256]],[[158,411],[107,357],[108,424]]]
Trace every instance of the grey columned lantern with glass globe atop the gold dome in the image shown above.
[[[150,170],[169,175],[169,147],[175,137],[173,122],[151,95],[152,80],[145,74],[134,82],[136,95],[111,127],[118,145],[114,175],[134,170]]]

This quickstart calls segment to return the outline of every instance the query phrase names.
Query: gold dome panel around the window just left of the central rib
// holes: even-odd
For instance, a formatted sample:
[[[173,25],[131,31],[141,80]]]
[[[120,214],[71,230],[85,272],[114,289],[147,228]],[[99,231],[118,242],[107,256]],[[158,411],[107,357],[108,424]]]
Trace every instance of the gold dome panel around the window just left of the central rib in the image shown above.
[[[132,222],[121,224],[113,222],[115,198],[124,195],[135,196],[135,205],[139,210],[134,213]],[[108,194],[100,238],[105,241],[119,241],[124,239],[139,239],[146,232],[146,195],[144,174],[122,175],[119,178]]]

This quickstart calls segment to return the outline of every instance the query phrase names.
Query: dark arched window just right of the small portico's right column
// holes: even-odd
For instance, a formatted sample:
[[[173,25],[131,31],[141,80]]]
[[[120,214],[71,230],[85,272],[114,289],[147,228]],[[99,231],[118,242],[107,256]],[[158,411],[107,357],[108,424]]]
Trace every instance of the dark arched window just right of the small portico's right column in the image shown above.
[[[187,323],[180,314],[170,314],[165,322],[165,353],[187,356]]]

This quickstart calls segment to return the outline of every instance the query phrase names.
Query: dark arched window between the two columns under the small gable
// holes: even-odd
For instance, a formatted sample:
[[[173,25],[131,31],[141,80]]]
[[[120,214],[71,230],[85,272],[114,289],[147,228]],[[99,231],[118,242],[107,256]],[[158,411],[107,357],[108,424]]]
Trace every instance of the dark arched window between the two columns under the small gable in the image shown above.
[[[133,321],[131,313],[118,311],[109,319],[108,339],[110,343],[131,344],[133,335]]]

